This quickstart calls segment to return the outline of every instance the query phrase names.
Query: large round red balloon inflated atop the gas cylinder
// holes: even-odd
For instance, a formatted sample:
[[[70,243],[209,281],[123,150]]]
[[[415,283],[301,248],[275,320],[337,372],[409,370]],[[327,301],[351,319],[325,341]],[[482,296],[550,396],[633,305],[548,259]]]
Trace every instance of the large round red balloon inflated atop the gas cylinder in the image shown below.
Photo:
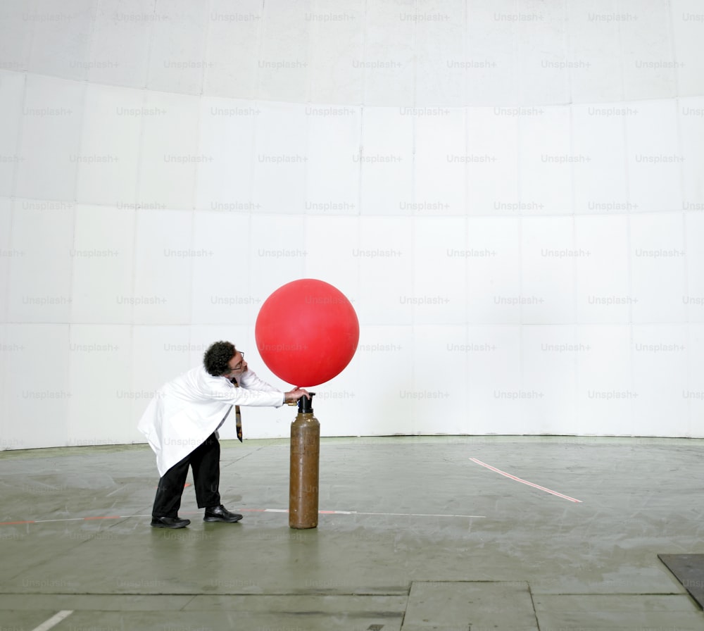
[[[350,363],[359,342],[359,321],[339,289],[303,278],[279,287],[264,301],[254,336],[272,373],[307,388],[331,380]]]

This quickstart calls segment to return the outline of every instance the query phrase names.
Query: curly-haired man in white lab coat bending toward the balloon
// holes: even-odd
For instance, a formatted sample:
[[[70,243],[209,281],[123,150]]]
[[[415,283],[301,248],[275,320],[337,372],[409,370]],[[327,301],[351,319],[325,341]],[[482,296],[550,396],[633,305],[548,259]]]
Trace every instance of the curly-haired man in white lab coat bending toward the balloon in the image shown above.
[[[236,387],[239,385],[239,387]],[[308,392],[282,392],[260,380],[230,342],[215,342],[193,368],[158,390],[137,425],[156,453],[161,475],[151,511],[156,528],[182,528],[178,509],[189,466],[203,521],[235,523],[242,516],[220,503],[220,443],[218,428],[234,405],[282,406]]]

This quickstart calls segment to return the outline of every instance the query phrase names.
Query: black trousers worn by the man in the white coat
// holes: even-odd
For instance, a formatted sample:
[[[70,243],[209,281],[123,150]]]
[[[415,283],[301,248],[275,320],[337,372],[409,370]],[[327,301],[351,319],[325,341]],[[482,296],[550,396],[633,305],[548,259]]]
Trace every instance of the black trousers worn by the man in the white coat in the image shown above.
[[[193,469],[198,508],[220,506],[220,442],[211,434],[159,480],[151,511],[153,517],[178,516],[189,466]]]

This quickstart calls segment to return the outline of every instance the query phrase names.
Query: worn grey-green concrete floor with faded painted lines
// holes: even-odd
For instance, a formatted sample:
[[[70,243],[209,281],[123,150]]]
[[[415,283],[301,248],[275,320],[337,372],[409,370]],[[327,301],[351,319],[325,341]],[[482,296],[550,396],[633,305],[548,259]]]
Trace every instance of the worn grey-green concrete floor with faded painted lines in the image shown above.
[[[287,441],[222,446],[245,518],[189,487],[184,530],[149,527],[146,446],[1,452],[0,629],[704,629],[657,557],[704,552],[702,440],[323,439],[315,530]]]

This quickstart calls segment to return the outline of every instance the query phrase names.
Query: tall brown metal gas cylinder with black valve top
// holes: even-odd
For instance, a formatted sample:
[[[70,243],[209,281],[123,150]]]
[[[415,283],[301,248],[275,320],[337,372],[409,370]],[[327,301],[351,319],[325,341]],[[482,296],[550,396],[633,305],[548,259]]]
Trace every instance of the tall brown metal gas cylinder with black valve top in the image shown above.
[[[289,527],[318,526],[318,473],[320,469],[320,423],[313,416],[310,399],[298,399],[298,415],[291,423],[291,473],[289,477]]]

